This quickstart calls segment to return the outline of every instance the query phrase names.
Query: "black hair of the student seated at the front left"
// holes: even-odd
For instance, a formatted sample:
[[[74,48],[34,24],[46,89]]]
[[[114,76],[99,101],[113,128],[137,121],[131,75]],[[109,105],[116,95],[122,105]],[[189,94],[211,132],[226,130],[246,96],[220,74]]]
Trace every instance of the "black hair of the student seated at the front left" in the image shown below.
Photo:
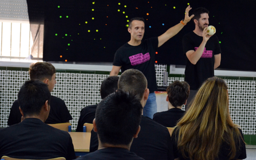
[[[49,105],[51,93],[48,85],[38,79],[26,81],[18,93],[18,102],[24,117],[26,115],[39,115],[46,100],[48,100]]]

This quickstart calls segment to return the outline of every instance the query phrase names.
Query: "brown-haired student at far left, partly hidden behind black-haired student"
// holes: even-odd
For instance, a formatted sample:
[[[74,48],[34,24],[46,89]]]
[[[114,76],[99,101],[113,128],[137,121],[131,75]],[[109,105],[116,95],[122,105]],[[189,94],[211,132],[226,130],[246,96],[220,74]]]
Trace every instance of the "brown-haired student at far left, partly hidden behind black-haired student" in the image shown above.
[[[56,84],[55,72],[54,66],[48,62],[32,63],[29,69],[30,79],[39,79],[41,82],[46,83],[50,92],[53,91],[54,85]],[[20,122],[21,118],[22,114],[19,112],[18,100],[15,100],[11,106],[7,125],[15,125]],[[58,97],[51,96],[51,110],[45,123],[66,123],[69,120],[72,120],[72,116],[65,102]]]

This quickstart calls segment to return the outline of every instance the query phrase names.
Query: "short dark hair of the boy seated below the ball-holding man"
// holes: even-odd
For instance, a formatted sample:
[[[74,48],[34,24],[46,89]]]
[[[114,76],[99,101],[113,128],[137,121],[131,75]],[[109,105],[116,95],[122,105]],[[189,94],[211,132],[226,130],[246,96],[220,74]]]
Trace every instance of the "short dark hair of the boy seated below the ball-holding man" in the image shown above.
[[[186,103],[190,92],[189,88],[189,84],[185,81],[171,83],[166,89],[170,104],[176,108]]]

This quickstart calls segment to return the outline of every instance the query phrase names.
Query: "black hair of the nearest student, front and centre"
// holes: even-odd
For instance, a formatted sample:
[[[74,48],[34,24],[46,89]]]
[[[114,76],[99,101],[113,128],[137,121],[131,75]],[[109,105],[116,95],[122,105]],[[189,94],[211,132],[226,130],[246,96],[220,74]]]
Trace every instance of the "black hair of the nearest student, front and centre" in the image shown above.
[[[128,145],[137,133],[143,107],[132,94],[113,92],[97,106],[95,122],[103,144]]]

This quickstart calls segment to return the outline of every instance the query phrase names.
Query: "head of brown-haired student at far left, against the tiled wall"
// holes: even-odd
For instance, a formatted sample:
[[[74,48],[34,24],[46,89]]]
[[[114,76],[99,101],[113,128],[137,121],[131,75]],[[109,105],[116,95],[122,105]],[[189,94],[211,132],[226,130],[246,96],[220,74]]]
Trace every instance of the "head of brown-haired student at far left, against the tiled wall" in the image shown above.
[[[39,79],[40,81],[48,84],[50,92],[53,91],[56,84],[56,70],[51,63],[37,62],[32,63],[29,69],[30,79]]]

